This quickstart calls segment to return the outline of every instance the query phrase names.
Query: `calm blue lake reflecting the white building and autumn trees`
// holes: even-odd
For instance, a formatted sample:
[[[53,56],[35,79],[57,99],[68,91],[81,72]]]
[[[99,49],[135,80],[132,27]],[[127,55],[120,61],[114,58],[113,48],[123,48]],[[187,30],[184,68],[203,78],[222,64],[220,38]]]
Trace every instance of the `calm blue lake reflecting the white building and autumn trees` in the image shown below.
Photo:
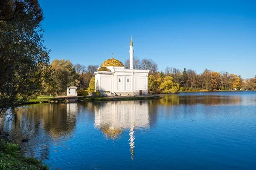
[[[255,169],[256,92],[160,96],[29,105],[1,130],[53,170]]]

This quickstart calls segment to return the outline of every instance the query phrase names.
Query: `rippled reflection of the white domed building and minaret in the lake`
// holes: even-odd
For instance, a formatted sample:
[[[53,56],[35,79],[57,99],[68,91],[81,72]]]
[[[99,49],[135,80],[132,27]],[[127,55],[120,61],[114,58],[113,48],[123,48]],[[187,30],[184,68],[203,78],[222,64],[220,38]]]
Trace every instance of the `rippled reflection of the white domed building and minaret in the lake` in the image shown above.
[[[131,159],[134,159],[136,129],[149,128],[148,101],[112,101],[95,107],[95,126],[115,140],[129,130]]]

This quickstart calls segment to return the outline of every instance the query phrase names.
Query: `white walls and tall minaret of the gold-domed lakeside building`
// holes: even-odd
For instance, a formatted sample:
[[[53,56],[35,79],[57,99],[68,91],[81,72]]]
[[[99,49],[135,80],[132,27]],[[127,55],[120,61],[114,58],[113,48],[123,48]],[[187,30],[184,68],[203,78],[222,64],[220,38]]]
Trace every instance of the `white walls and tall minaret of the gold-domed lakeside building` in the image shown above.
[[[101,93],[111,92],[114,95],[148,95],[149,70],[133,69],[133,54],[133,43],[131,39],[130,69],[125,69],[124,66],[99,67],[98,71],[94,73],[95,89],[100,90]],[[109,60],[111,61],[111,59]],[[118,61],[113,59],[113,57],[112,60]]]

